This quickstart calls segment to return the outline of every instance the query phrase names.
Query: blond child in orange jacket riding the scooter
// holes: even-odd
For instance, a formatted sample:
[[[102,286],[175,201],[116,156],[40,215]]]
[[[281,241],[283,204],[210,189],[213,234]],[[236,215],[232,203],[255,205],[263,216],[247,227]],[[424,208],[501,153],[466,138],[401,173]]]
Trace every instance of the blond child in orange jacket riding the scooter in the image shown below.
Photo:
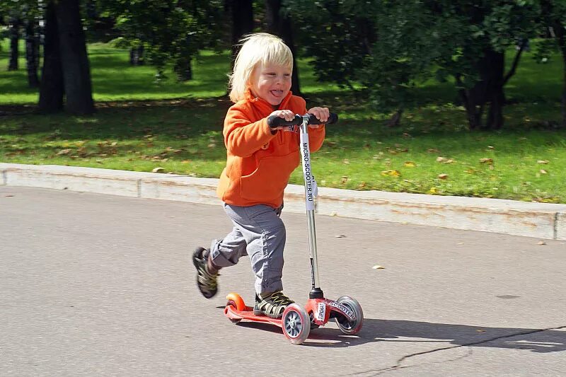
[[[299,134],[289,127],[270,129],[267,117],[293,120],[307,112],[303,98],[292,95],[293,56],[284,42],[266,33],[243,40],[233,74],[230,99],[235,103],[224,120],[226,168],[216,190],[233,229],[209,250],[197,248],[192,261],[202,295],[216,294],[218,271],[236,265],[249,255],[255,273],[256,315],[280,318],[293,303],[282,293],[285,226],[279,218],[283,191],[289,175],[299,166]],[[328,108],[308,110],[320,122],[328,120]],[[323,144],[324,125],[308,130],[311,151]]]

